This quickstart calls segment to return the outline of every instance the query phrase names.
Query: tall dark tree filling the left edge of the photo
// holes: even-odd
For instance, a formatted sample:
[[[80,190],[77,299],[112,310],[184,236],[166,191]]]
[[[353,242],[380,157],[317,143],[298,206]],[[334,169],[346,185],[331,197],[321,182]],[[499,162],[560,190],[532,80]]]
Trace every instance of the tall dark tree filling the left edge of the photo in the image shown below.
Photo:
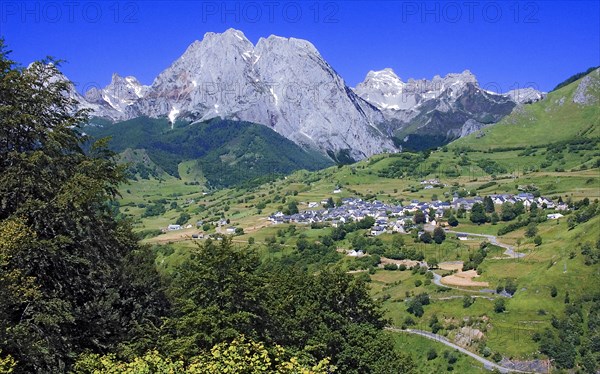
[[[125,168],[106,140],[82,135],[86,112],[58,66],[17,67],[0,41],[0,231],[16,222],[28,233],[0,244],[0,350],[16,372],[63,372],[84,350],[127,342],[146,349],[165,311],[152,252],[110,208]]]

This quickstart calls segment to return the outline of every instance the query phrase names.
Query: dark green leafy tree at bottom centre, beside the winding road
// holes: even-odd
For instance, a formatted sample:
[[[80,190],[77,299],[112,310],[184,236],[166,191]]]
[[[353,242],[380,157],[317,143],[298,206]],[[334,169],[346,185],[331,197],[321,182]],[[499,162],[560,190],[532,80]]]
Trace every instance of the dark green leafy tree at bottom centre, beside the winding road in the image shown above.
[[[383,333],[383,312],[364,278],[340,268],[312,274],[292,267],[268,279],[266,329],[282,346],[316,360],[329,357],[342,373],[396,373],[413,367]]]

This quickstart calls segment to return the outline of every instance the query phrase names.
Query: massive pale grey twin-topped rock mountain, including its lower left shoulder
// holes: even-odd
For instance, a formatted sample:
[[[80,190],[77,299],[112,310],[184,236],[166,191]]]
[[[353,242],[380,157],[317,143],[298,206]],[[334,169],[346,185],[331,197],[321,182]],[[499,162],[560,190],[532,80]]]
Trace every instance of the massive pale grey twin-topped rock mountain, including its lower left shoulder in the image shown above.
[[[150,87],[129,78],[113,77],[111,86],[86,96],[115,120],[222,117],[263,124],[303,146],[354,159],[396,150],[376,127],[380,112],[305,40],[270,36],[254,46],[237,30],[207,33]],[[111,95],[113,88],[120,94]]]

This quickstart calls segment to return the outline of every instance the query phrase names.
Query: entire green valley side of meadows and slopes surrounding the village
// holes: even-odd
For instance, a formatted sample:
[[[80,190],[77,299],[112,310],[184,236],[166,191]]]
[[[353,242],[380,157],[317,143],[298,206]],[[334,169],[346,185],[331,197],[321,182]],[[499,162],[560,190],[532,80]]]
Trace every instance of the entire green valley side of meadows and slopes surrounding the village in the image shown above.
[[[593,79],[598,82],[597,77]],[[189,182],[203,183],[208,169],[198,167],[195,160],[178,159],[177,178],[139,179],[124,186],[119,211],[144,237],[143,242],[153,246],[164,276],[176,274],[190,261],[197,243],[191,240],[192,234],[223,233],[225,229],[217,222],[227,220],[227,226],[238,229],[233,242],[254,249],[267,268],[294,266],[318,274],[333,266],[368,282],[370,296],[396,329],[388,334],[399,352],[413,358],[418,373],[484,369],[447,346],[398,329],[435,332],[505,367],[517,362],[524,365],[523,370],[546,370],[552,359],[554,368],[594,370],[600,364],[594,350],[600,321],[600,295],[595,288],[600,281],[600,132],[596,105],[573,102],[580,82],[522,107],[480,134],[432,152],[376,155],[352,165],[298,170],[263,184],[237,185],[207,195]],[[597,87],[589,91],[596,99]],[[176,124],[166,133],[177,134],[185,126]],[[228,154],[234,154],[243,142],[229,142]],[[132,152],[137,156],[131,156]],[[152,155],[140,152],[126,153],[132,160],[145,160],[144,152]],[[437,183],[428,188],[421,183],[431,179]],[[337,188],[341,192],[334,195]],[[418,239],[418,230],[371,237],[368,229],[352,224],[342,228],[328,222],[272,225],[267,219],[277,211],[308,209],[309,202],[329,197],[338,203],[341,198],[360,197],[406,205],[413,199],[451,201],[454,194],[484,197],[524,191],[565,201],[571,210],[563,212],[564,218],[551,220],[547,214],[555,211],[541,206],[537,213],[525,209],[506,221],[486,223],[474,223],[470,213],[452,213],[458,216],[454,230],[497,236],[501,243],[523,253],[523,258],[507,257],[501,247],[486,244],[482,237],[463,241],[447,234],[441,244],[424,243]],[[500,214],[501,209],[496,206],[495,212]],[[155,210],[159,213],[152,213]],[[160,232],[176,221],[192,227]],[[439,221],[446,223],[448,217]],[[531,230],[534,236],[528,233]],[[362,249],[367,256],[344,256],[350,249]],[[477,281],[487,282],[486,287],[444,288],[432,278],[448,276],[451,270],[390,270],[381,262],[395,256],[464,264],[481,253],[485,256],[476,265]],[[511,287],[511,297],[494,293]],[[427,302],[421,312],[415,312],[411,309],[414,300],[421,302],[424,294]],[[502,308],[498,309],[498,303]],[[468,336],[471,332],[476,336]]]

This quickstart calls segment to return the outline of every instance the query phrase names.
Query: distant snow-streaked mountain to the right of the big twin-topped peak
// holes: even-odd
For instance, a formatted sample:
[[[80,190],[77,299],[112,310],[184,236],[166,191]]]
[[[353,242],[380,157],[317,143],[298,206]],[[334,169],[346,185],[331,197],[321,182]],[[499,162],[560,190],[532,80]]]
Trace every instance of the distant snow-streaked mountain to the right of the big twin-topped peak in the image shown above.
[[[391,70],[370,71],[355,92],[381,110],[382,129],[413,149],[441,145],[498,122],[520,103],[541,99],[534,90],[500,95],[483,90],[468,70],[431,80],[402,82]]]

